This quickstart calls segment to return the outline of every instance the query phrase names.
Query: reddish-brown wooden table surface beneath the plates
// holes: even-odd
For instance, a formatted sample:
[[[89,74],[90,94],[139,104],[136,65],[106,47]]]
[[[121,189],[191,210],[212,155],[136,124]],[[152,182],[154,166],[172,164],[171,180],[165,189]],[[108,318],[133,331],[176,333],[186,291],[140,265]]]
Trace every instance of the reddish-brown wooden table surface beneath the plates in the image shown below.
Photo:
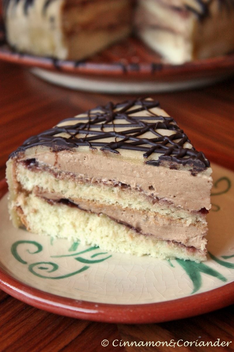
[[[197,90],[152,94],[210,161],[234,170],[234,79]],[[132,95],[76,92],[52,86],[18,65],[0,62],[0,178],[9,153],[61,119]],[[0,351],[233,351],[233,306],[178,321],[121,325],[67,318],[0,291]],[[112,341],[232,341],[227,347],[113,347]],[[101,341],[110,341],[106,347]],[[199,340],[199,341],[200,341]]]

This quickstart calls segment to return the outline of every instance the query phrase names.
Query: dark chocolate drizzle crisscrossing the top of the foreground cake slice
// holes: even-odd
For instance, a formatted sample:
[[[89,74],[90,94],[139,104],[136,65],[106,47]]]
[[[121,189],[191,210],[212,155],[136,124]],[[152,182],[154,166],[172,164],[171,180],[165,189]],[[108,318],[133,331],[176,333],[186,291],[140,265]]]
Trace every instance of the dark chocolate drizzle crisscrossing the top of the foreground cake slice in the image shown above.
[[[129,100],[116,105],[109,102],[106,106],[89,110],[85,117],[82,114],[82,117],[78,115],[63,120],[50,130],[28,138],[10,157],[39,145],[51,147],[52,151],[88,146],[92,150],[99,147],[102,152],[116,154],[121,149],[143,152],[146,164],[165,165],[172,169],[178,169],[180,164],[187,165],[193,175],[209,167],[209,161],[202,152],[194,147],[184,147],[190,141],[175,120],[156,115],[152,110],[155,107],[160,107],[159,102],[150,99]],[[162,134],[163,130],[168,135]],[[152,138],[145,137],[146,132],[150,132]],[[154,153],[155,158],[147,160]]]

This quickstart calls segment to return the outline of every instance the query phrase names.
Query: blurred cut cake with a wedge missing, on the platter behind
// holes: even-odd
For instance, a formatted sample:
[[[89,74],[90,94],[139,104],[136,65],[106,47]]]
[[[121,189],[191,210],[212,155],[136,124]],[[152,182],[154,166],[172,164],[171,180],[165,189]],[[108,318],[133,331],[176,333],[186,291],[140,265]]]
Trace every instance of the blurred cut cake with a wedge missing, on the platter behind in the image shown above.
[[[17,51],[81,60],[134,32],[165,62],[234,50],[234,0],[3,0]]]

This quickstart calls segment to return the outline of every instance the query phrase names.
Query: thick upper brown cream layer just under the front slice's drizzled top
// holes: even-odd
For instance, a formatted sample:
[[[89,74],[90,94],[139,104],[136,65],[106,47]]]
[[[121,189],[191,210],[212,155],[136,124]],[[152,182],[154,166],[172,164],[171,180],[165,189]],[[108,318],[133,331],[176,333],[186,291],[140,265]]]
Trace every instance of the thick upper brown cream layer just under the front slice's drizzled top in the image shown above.
[[[87,149],[87,148],[86,148]],[[130,155],[130,153],[129,153]],[[190,211],[210,209],[210,169],[191,175],[188,170],[169,169],[166,166],[152,166],[139,160],[112,153],[98,151],[51,151],[49,147],[34,147],[19,156],[20,160],[35,158],[39,163],[49,165],[52,170],[85,176],[108,182],[114,180],[141,189],[149,196],[164,199],[176,207]]]

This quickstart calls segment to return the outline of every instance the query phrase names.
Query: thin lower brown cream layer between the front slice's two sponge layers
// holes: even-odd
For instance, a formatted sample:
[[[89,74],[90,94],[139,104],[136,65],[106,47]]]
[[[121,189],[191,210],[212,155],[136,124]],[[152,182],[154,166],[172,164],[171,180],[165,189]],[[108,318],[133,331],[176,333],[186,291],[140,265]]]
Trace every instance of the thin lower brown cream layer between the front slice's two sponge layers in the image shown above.
[[[91,213],[105,214],[121,224],[132,227],[141,234],[152,235],[159,240],[175,241],[200,250],[206,248],[206,223],[199,224],[200,226],[197,224],[185,225],[179,219],[172,220],[169,216],[161,216],[153,212],[143,212],[131,208],[123,209],[119,206],[103,205],[82,199],[73,199],[73,202],[71,202],[63,199],[62,195],[40,193],[40,191],[36,195],[52,204],[53,202],[61,202],[67,206],[77,206],[79,209]]]

